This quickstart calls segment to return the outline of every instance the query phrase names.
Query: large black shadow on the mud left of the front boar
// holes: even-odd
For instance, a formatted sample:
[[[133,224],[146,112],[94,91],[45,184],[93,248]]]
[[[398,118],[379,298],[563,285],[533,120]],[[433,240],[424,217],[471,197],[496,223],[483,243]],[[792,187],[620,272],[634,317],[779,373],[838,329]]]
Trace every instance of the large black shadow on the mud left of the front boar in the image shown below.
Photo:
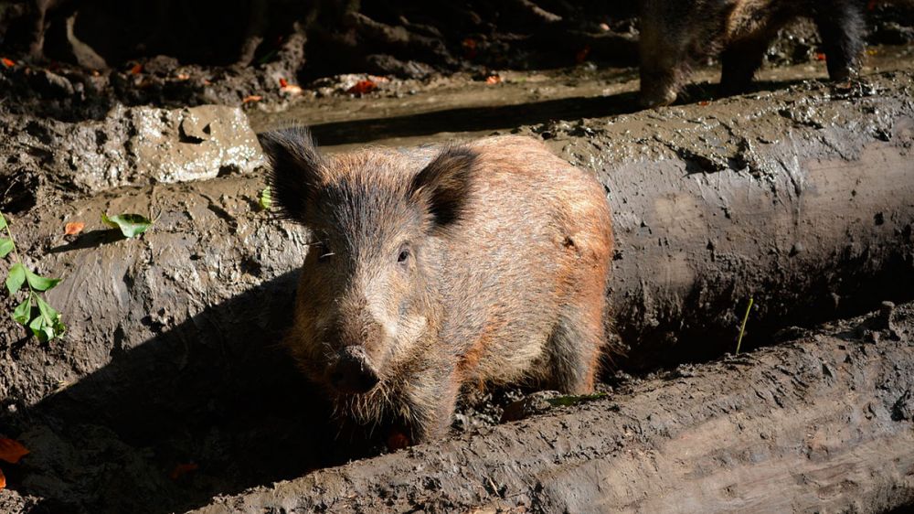
[[[141,346],[0,426],[31,454],[9,485],[36,512],[182,511],[333,462],[321,395],[276,341],[298,272]],[[12,428],[13,430],[8,430]]]

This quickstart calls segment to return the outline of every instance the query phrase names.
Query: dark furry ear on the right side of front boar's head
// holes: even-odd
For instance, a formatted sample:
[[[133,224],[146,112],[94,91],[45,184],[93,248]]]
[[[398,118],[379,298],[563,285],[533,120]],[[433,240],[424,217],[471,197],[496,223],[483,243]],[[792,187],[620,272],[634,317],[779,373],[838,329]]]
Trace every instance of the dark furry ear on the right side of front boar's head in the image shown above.
[[[439,227],[462,217],[478,157],[467,146],[448,146],[412,179],[412,196],[426,203]]]

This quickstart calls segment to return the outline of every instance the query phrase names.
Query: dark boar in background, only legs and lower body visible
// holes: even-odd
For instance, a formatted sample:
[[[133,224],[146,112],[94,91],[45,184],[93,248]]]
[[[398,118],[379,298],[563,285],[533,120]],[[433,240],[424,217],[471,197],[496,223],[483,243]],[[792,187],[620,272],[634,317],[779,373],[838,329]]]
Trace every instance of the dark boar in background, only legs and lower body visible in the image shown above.
[[[813,19],[828,75],[846,80],[863,51],[865,0],[643,0],[641,102],[668,105],[688,77],[689,63],[718,50],[723,94],[744,91],[771,39],[798,17]]]

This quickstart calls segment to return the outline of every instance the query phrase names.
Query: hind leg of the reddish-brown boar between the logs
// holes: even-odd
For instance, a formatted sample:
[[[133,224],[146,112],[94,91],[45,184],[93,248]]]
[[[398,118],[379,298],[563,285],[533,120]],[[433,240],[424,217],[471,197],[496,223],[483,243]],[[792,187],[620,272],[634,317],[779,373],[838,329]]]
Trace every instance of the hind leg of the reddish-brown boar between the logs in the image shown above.
[[[593,300],[587,303],[567,305],[549,339],[552,374],[549,381],[558,391],[570,394],[593,391],[593,376],[605,341],[600,296],[587,298]]]

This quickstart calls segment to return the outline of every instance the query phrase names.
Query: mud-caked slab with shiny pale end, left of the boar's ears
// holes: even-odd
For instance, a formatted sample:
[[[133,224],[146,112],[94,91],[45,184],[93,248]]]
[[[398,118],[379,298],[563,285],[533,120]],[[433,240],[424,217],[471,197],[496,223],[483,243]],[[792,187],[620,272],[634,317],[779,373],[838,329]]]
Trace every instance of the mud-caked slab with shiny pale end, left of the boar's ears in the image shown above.
[[[73,191],[247,174],[262,160],[239,108],[118,105],[101,121],[74,124],[21,117],[0,126],[0,161],[7,165],[0,183],[11,185],[0,209],[21,211]]]

